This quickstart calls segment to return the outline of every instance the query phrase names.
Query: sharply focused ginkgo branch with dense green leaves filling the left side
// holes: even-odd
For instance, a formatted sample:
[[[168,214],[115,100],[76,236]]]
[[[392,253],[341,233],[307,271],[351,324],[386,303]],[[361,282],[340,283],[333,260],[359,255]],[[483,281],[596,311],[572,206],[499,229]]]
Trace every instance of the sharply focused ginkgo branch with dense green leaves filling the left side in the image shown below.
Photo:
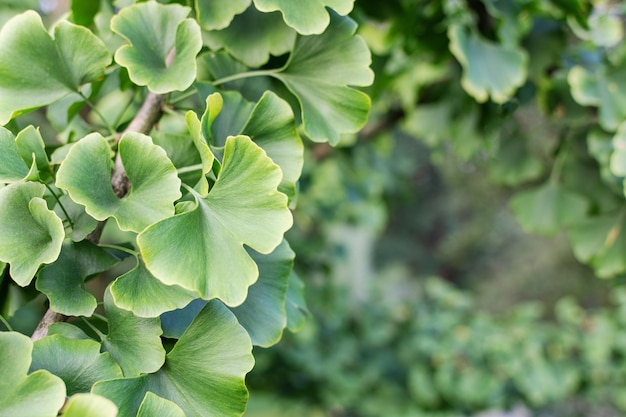
[[[244,413],[253,346],[307,315],[284,240],[301,137],[368,115],[353,1],[11,5],[0,416]],[[32,333],[27,303],[47,309]]]

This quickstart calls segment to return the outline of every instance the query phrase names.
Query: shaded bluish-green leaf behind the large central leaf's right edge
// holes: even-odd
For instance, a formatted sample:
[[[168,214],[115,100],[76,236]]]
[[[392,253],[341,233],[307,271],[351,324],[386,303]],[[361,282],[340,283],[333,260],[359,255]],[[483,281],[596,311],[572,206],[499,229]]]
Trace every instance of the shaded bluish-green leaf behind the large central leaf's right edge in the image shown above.
[[[278,343],[287,326],[285,300],[295,253],[283,241],[271,254],[254,253],[252,257],[259,267],[259,279],[233,313],[248,331],[253,345],[269,347]]]

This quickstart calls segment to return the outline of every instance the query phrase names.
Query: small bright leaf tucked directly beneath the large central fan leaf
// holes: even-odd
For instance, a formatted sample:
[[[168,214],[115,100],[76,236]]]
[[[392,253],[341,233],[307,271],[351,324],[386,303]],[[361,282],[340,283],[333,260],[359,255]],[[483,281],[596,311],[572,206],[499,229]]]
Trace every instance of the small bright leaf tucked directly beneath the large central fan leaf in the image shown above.
[[[115,305],[139,317],[159,317],[166,311],[185,307],[198,294],[176,285],[165,285],[146,269],[140,260],[137,266],[111,284]]]

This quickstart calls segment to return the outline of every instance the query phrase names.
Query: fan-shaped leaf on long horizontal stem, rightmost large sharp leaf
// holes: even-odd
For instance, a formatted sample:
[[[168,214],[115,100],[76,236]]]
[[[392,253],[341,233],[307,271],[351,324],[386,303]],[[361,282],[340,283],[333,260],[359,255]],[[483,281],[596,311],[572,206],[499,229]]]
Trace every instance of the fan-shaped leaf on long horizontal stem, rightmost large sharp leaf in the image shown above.
[[[269,74],[296,96],[304,130],[314,141],[337,144],[341,134],[355,133],[367,121],[369,97],[349,87],[374,80],[370,52],[355,36],[356,26],[333,13],[323,34],[298,36],[287,64]]]

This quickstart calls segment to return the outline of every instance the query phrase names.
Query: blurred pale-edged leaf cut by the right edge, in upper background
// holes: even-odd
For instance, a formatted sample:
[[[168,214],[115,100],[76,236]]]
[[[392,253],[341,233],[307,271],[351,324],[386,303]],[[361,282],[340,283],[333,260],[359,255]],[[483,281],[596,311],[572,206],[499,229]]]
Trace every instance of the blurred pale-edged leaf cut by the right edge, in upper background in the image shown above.
[[[574,66],[567,76],[572,97],[584,106],[598,107],[600,126],[617,129],[626,118],[626,66],[589,71]]]

